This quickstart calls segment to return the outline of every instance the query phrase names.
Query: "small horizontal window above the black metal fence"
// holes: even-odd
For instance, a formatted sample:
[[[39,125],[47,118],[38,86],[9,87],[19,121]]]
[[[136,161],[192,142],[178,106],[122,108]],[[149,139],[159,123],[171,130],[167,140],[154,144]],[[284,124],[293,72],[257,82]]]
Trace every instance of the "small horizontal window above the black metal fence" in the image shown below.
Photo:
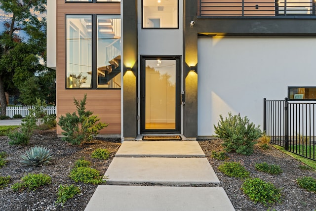
[[[316,87],[289,87],[290,100],[316,100]]]

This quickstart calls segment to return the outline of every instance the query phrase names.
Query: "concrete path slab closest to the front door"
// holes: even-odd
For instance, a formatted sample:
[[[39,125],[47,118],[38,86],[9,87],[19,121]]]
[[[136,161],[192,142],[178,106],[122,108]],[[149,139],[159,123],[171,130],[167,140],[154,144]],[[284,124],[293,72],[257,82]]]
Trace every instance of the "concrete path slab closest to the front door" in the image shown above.
[[[115,156],[205,158],[197,141],[124,141]]]

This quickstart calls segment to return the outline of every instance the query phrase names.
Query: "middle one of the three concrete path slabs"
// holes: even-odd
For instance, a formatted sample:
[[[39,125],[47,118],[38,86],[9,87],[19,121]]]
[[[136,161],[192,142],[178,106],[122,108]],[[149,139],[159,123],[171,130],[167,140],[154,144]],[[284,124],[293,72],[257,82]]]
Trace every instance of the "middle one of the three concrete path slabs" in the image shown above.
[[[114,158],[105,172],[108,184],[165,185],[218,183],[206,158]]]

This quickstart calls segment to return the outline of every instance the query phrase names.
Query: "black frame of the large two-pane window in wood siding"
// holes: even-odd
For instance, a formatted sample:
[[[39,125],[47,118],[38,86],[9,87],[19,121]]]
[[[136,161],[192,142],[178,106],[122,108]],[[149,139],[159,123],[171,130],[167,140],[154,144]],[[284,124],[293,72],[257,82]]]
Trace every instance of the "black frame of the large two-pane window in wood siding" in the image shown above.
[[[69,88],[67,87],[67,16],[91,16],[91,85],[92,87],[83,88]],[[121,88],[108,88],[98,87],[98,73],[97,73],[97,17],[98,16],[118,16],[121,20],[120,14],[65,14],[65,89],[121,89]],[[121,51],[122,54],[122,51]]]

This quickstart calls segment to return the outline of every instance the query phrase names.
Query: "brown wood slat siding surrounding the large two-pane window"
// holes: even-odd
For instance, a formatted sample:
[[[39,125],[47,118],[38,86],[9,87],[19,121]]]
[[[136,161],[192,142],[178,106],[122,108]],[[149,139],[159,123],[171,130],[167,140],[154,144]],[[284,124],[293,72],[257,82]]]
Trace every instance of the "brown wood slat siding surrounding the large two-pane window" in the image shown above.
[[[86,109],[93,111],[102,121],[110,125],[100,134],[120,134],[120,91],[119,89],[66,89],[66,41],[65,14],[120,14],[120,2],[117,3],[65,3],[56,1],[56,112],[57,121],[61,115],[74,112],[74,98],[80,100],[87,94]],[[57,127],[57,133],[61,134]]]

